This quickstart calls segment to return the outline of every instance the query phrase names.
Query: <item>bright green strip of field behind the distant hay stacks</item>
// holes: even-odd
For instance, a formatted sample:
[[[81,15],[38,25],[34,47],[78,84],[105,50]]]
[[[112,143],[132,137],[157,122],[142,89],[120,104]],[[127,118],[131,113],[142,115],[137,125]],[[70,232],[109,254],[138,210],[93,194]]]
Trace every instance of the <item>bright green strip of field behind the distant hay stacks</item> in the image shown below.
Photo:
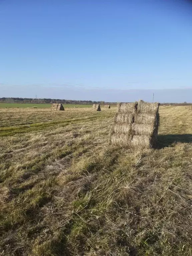
[[[52,104],[0,103],[0,108],[51,108]],[[63,104],[65,108],[90,108],[92,105]]]

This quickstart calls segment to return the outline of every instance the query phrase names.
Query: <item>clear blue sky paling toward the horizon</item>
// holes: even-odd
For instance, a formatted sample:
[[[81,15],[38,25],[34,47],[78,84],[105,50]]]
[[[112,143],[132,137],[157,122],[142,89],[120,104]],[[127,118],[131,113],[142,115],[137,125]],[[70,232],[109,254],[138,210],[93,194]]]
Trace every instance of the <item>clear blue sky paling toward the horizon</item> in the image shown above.
[[[192,3],[0,0],[0,97],[192,102]]]

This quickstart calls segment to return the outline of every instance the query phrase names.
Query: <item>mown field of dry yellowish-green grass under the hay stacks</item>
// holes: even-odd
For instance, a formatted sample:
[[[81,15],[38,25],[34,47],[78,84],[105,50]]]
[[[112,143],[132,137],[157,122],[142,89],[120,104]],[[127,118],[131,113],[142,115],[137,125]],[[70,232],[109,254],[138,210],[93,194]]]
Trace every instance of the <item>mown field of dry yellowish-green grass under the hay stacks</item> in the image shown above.
[[[142,151],[108,146],[115,111],[0,109],[1,256],[192,255],[192,111]]]

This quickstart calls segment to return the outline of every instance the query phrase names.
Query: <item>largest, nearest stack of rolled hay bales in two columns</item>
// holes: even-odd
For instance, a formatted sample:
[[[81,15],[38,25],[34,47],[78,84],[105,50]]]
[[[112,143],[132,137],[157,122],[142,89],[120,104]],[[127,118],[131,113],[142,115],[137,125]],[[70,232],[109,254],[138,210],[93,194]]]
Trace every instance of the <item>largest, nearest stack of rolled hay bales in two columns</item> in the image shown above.
[[[109,143],[118,146],[152,148],[159,126],[159,103],[140,100],[135,103],[119,103]]]

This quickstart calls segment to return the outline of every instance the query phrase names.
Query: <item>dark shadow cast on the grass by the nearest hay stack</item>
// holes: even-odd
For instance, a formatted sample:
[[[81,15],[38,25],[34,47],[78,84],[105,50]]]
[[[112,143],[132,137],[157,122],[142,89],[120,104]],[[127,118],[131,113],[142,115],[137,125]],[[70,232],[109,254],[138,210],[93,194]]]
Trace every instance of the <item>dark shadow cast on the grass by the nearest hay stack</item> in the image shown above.
[[[167,135],[158,135],[157,137],[157,148],[169,147],[173,143],[183,142],[189,143],[192,142],[192,134],[167,134]]]

